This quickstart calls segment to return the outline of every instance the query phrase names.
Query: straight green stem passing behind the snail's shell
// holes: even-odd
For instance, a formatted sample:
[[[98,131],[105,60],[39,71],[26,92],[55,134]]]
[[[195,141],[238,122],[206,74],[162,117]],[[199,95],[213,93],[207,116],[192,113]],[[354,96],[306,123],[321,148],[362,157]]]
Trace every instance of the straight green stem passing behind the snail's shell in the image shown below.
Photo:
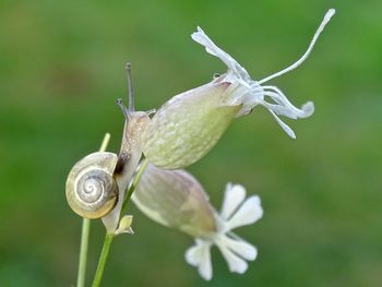
[[[110,141],[110,134],[106,133],[103,140],[103,143],[99,147],[99,152],[105,152],[107,145]],[[76,286],[84,287],[86,278],[86,261],[87,261],[87,248],[88,248],[88,238],[91,234],[91,219],[82,219],[82,232],[81,232],[81,246],[80,246],[80,259],[79,259],[79,274]]]

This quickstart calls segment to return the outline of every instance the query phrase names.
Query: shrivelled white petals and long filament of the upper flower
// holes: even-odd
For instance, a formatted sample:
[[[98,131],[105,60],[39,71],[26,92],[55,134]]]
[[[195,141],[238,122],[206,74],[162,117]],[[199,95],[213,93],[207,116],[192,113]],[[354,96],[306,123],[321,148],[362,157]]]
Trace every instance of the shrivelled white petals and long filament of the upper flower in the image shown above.
[[[314,106],[312,101],[308,101],[305,104],[301,109],[295,107],[287,97],[283,94],[280,89],[276,86],[272,85],[262,85],[263,83],[279,76],[284,73],[287,73],[298,65],[300,65],[311,52],[319,35],[329,23],[331,17],[335,14],[335,10],[331,9],[326,12],[321,25],[315,32],[313,39],[311,40],[308,50],[303,53],[303,56],[290,67],[274,73],[263,80],[253,81],[251,76],[248,74],[244,68],[242,68],[232,57],[230,57],[227,52],[217,47],[212,39],[202,31],[201,27],[198,27],[198,32],[192,34],[192,39],[203,45],[206,51],[217,58],[219,58],[227,67],[228,71],[226,74],[222,75],[222,82],[231,83],[235,86],[244,87],[244,92],[240,91],[240,93],[234,93],[231,97],[231,105],[242,105],[241,109],[238,111],[237,117],[247,115],[250,112],[253,107],[256,105],[263,105],[266,107],[272,116],[277,120],[279,125],[284,129],[284,131],[290,136],[296,137],[294,131],[283,122],[278,116],[285,116],[290,119],[298,118],[307,118],[311,116],[314,111]],[[270,97],[272,101],[266,101],[266,97]]]

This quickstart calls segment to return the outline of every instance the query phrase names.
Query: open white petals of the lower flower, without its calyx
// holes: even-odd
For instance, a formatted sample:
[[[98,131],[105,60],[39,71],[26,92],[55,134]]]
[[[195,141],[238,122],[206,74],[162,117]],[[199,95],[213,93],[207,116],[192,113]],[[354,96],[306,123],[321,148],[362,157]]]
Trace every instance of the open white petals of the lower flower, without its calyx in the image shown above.
[[[248,268],[247,261],[255,260],[258,250],[254,246],[231,232],[234,228],[250,225],[263,215],[260,198],[246,199],[246,190],[239,184],[227,184],[220,215],[219,227],[210,238],[196,238],[195,246],[186,252],[186,261],[198,267],[199,274],[206,280],[212,278],[211,247],[216,244],[227,261],[230,272],[242,274]]]

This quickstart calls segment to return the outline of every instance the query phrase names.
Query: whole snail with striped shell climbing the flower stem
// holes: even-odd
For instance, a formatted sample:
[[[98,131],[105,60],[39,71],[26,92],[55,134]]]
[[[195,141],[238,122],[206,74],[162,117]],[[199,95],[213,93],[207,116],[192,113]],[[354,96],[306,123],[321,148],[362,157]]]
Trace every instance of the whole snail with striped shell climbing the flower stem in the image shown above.
[[[103,218],[107,229],[116,229],[126,189],[142,155],[141,131],[150,122],[152,111],[134,111],[131,67],[127,64],[129,108],[117,104],[124,115],[121,148],[114,153],[93,153],[74,165],[67,180],[70,207],[86,218]]]

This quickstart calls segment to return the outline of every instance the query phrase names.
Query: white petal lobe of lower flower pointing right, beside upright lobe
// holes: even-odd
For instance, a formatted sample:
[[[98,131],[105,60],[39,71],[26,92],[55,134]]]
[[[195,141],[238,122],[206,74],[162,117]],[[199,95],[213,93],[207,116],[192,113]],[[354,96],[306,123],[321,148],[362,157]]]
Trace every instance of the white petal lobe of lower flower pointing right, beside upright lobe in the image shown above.
[[[255,223],[263,216],[260,198],[253,195],[249,198],[237,211],[236,214],[226,223],[226,229],[231,230],[239,226]]]

